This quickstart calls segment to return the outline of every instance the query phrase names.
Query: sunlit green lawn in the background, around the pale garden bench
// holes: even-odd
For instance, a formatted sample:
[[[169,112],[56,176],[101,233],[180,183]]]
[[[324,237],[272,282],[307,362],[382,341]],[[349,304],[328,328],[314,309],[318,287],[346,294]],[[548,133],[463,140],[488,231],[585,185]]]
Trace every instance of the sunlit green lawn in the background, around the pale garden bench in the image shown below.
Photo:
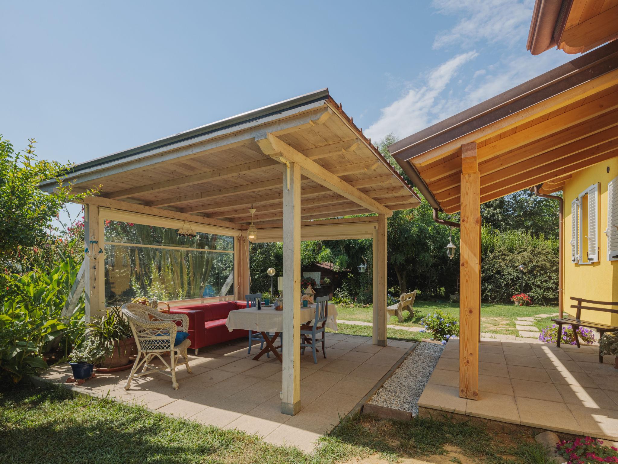
[[[389,320],[389,324],[421,327],[420,320],[423,316],[430,314],[432,311],[436,311],[436,309],[441,309],[447,314],[453,314],[459,319],[459,303],[417,300],[414,302],[413,317],[410,317],[410,314],[404,311],[404,322],[399,322],[397,317],[392,316]],[[373,309],[371,307],[337,306],[337,319],[364,320],[366,322],[371,322],[372,311]],[[502,333],[504,335],[518,335],[517,329],[515,329],[515,319],[517,319],[517,317],[535,316],[536,314],[548,314],[551,312],[558,312],[557,306],[515,306],[514,304],[482,303],[481,331]],[[543,327],[546,327],[546,325]]]

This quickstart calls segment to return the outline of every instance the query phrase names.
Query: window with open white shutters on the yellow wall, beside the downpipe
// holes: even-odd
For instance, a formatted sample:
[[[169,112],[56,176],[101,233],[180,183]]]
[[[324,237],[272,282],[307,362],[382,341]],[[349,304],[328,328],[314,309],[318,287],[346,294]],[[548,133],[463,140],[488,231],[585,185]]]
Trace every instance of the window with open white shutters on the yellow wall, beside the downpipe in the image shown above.
[[[589,264],[599,260],[599,186],[593,184],[571,202],[571,260]]]

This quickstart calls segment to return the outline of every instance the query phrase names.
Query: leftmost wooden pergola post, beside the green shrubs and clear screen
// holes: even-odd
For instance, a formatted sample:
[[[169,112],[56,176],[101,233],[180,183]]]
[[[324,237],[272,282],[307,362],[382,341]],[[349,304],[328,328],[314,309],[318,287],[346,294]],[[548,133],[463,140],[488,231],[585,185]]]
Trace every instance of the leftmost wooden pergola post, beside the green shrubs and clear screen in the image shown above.
[[[84,267],[85,319],[86,322],[90,322],[92,318],[103,317],[105,313],[103,221],[99,217],[99,207],[86,205],[84,219],[84,240],[88,249],[82,263],[82,267]]]

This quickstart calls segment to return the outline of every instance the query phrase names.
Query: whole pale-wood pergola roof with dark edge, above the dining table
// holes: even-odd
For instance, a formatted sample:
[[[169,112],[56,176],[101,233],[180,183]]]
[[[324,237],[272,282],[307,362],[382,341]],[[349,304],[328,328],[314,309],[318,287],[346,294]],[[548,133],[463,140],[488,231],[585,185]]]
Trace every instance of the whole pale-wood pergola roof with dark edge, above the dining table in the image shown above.
[[[281,225],[285,160],[302,166],[302,220],[386,213],[420,203],[328,89],[75,166],[91,202],[246,228]],[[52,191],[53,181],[42,184]]]

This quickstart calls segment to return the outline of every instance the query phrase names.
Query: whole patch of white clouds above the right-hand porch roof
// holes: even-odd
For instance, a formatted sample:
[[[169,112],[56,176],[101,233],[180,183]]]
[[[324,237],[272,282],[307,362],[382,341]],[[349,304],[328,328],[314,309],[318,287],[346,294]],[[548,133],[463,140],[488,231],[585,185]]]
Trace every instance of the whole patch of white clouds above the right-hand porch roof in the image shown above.
[[[490,64],[481,69],[467,66],[477,56],[480,58],[476,61],[483,58],[476,50],[460,51],[447,59],[421,76],[416,85],[403,87],[402,96],[381,110],[378,121],[366,131],[371,139],[381,139],[390,132],[407,137],[569,60],[565,53],[532,56],[525,50],[533,0],[434,0],[433,4],[442,14],[460,17],[451,31],[436,37],[434,48],[457,43],[465,49],[476,43],[477,49],[488,49]],[[505,52],[495,45],[498,40],[519,45]],[[488,44],[493,46],[486,47]],[[455,75],[459,75],[456,80]]]

